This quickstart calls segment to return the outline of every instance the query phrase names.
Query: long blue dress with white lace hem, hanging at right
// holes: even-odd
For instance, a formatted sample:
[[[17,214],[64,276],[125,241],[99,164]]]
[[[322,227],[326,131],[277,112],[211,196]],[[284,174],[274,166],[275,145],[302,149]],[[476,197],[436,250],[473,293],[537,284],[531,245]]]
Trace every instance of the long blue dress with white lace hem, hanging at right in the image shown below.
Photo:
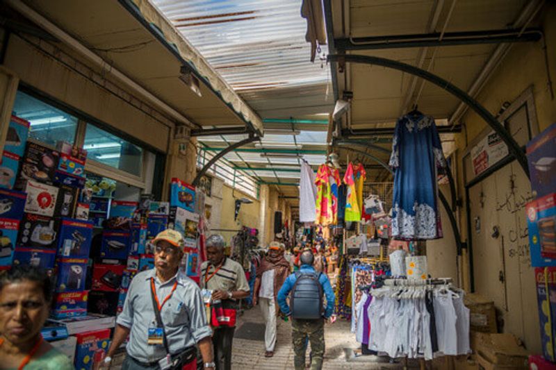
[[[442,237],[437,207],[437,169],[446,166],[434,119],[398,119],[389,165],[394,169],[392,237],[404,240]]]

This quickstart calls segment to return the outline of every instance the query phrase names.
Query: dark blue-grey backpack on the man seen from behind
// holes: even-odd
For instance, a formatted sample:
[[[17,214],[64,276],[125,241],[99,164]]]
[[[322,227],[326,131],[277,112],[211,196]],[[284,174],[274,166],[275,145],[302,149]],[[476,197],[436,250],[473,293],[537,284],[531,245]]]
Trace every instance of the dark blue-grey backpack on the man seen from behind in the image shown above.
[[[290,308],[293,319],[316,320],[322,318],[322,285],[320,272],[295,272]]]

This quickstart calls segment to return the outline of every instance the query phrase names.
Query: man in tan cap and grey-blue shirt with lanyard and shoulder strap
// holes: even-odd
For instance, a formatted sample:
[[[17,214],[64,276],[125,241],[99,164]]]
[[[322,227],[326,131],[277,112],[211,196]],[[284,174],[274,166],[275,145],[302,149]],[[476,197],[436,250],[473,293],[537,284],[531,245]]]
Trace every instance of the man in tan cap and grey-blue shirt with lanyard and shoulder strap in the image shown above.
[[[190,353],[195,344],[199,345],[205,369],[214,370],[212,330],[206,323],[201,291],[193,280],[179,272],[183,238],[177,231],[168,229],[152,243],[155,268],[140,272],[131,281],[104,363],[110,364],[113,353],[129,335],[122,370],[164,369],[166,360],[170,362],[183,353]],[[163,330],[158,325],[153,301],[161,313]]]

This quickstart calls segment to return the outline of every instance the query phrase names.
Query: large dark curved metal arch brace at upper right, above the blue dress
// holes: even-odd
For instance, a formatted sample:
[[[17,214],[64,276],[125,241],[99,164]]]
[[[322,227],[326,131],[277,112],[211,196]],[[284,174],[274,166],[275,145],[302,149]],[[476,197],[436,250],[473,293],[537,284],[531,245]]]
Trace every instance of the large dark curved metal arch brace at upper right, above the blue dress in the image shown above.
[[[379,58],[377,56],[361,56],[361,55],[329,55],[327,58],[331,62],[352,62],[352,63],[361,63],[361,64],[368,64],[368,65],[381,65],[382,67],[388,67],[392,69],[398,69],[402,72],[407,72],[409,74],[413,74],[414,76],[418,76],[423,78],[430,83],[434,83],[441,87],[442,89],[450,92],[450,94],[456,96],[459,100],[466,103],[469,108],[473,109],[477,115],[482,117],[486,124],[489,124],[494,132],[498,133],[502,140],[504,140],[505,144],[508,146],[509,153],[511,153],[514,158],[518,161],[525,174],[529,176],[529,168],[527,164],[527,157],[525,153],[521,150],[519,144],[514,140],[512,135],[506,131],[506,129],[496,120],[496,118],[491,115],[491,113],[486,110],[478,101],[473,99],[469,96],[466,92],[459,89],[459,87],[452,85],[445,79],[436,76],[436,74],[432,74],[430,72],[425,71],[424,69],[420,69],[418,67],[414,67],[413,65],[408,65],[406,63],[398,62],[396,60],[390,60],[386,58]]]

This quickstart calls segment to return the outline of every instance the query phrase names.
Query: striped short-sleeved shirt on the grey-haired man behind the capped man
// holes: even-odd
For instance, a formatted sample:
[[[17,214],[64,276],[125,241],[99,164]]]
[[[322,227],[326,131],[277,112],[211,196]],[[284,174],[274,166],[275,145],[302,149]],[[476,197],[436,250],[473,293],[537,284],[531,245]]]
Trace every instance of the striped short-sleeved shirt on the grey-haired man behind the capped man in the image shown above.
[[[216,268],[209,261],[203,262],[201,265],[201,287],[209,290],[224,290],[224,292],[235,292],[243,290],[249,292],[249,284],[245,278],[245,272],[238,262],[224,257],[224,264],[216,274],[213,275]],[[212,278],[211,278],[212,276]],[[205,278],[210,278],[205,283]]]

